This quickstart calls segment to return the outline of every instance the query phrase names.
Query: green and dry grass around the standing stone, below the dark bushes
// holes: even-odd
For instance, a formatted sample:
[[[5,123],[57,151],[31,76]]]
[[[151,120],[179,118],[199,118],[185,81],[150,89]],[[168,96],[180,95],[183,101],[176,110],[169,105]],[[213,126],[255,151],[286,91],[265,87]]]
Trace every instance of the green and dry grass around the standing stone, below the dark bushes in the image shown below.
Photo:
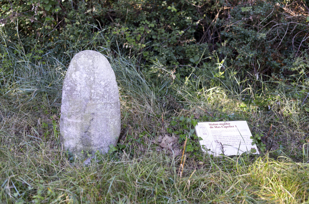
[[[2,203],[308,202],[308,73],[294,82],[266,80],[226,65],[222,73],[214,62],[183,79],[159,62],[140,71],[134,59],[104,49],[120,90],[122,131],[118,151],[96,154],[98,162],[85,166],[62,152],[58,141],[69,62],[51,53],[29,55],[22,40],[9,42],[1,32]],[[182,126],[172,133],[167,128],[181,116],[247,120],[266,149],[223,158],[185,152],[180,176],[181,156],[157,150],[159,136],[179,137]]]

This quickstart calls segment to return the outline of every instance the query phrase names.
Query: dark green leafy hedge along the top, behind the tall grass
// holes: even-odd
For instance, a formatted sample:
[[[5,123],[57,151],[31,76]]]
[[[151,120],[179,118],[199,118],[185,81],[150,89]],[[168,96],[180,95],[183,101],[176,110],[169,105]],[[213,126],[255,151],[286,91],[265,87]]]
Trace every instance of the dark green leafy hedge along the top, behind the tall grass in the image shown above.
[[[185,77],[203,72],[210,58],[237,70],[290,79],[308,58],[308,2],[297,1],[2,1],[1,23],[20,39],[28,58],[38,52],[70,58],[108,47],[152,60]],[[16,21],[18,19],[18,21]],[[19,36],[16,36],[16,29]],[[93,39],[93,40],[92,40]],[[35,46],[34,46],[35,45]],[[4,54],[5,55],[5,54]]]

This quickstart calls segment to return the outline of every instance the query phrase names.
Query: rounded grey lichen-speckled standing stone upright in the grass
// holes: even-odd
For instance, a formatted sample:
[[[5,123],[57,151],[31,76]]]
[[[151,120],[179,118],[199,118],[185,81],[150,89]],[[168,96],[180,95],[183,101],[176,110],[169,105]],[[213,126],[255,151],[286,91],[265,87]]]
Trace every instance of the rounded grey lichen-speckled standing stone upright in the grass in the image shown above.
[[[79,158],[107,153],[120,135],[120,101],[116,77],[99,52],[77,53],[62,88],[60,142]],[[82,154],[81,152],[84,152]]]

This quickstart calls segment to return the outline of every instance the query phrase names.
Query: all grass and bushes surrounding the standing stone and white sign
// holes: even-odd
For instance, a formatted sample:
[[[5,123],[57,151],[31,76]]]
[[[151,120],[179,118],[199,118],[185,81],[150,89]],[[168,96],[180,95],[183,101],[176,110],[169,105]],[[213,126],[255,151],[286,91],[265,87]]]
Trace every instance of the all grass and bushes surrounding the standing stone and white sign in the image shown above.
[[[0,9],[0,202],[308,202],[308,1]],[[59,144],[63,79],[85,49],[110,61],[122,121],[89,165]],[[201,152],[195,124],[229,120],[248,121],[260,155]]]

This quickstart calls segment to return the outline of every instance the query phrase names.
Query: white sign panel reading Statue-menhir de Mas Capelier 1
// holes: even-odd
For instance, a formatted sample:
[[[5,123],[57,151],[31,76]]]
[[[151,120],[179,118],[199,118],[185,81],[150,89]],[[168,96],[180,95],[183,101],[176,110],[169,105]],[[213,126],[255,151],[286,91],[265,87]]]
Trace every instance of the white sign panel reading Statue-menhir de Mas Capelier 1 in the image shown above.
[[[252,136],[247,121],[203,122],[197,123],[195,132],[204,152],[219,155],[240,155],[251,151],[259,154],[256,144],[252,145]]]

